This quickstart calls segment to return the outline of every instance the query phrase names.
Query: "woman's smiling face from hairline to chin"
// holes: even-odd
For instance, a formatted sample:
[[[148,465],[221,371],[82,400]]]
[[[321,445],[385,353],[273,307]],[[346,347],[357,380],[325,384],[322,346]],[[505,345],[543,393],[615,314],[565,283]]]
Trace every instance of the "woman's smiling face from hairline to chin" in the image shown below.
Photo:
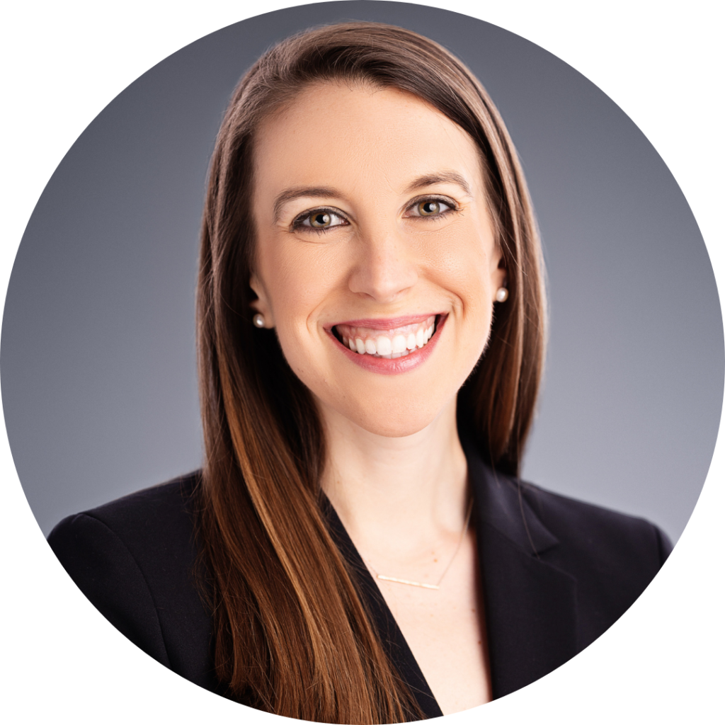
[[[326,82],[254,153],[251,284],[289,365],[323,415],[420,431],[481,356],[505,278],[476,145],[415,96]]]

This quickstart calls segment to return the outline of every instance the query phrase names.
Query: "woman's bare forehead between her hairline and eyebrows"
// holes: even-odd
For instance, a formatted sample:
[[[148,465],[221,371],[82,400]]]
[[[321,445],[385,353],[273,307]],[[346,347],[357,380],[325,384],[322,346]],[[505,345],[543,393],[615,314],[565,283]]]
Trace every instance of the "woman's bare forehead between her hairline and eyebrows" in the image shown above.
[[[411,178],[453,170],[482,186],[468,133],[426,101],[394,88],[316,83],[262,122],[254,144],[256,186],[325,183],[399,191]]]

